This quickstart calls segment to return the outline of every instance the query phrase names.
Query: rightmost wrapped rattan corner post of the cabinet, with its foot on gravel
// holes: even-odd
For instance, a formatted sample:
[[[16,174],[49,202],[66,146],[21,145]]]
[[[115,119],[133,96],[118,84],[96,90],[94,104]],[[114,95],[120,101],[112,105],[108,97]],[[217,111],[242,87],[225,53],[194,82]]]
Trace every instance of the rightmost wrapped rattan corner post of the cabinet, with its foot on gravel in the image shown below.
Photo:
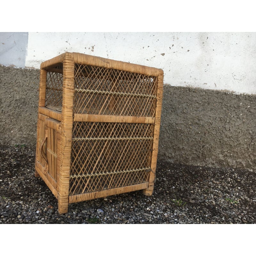
[[[157,77],[157,100],[156,100],[156,116],[155,116],[155,129],[154,129],[154,141],[153,151],[151,160],[151,171],[149,174],[148,188],[143,189],[145,196],[151,196],[154,189],[155,177],[156,177],[156,162],[158,153],[158,142],[159,142],[159,130],[161,121],[161,109],[162,109],[162,96],[163,96],[163,71]]]

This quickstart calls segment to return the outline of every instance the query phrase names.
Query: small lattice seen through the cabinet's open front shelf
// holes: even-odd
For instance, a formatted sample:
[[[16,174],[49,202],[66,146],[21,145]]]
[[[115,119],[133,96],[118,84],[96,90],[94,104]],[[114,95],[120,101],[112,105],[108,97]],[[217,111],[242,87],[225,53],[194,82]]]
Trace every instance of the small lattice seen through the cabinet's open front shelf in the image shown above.
[[[62,66],[56,67],[62,69]],[[56,110],[62,109],[63,75],[56,72],[47,72],[45,106]]]

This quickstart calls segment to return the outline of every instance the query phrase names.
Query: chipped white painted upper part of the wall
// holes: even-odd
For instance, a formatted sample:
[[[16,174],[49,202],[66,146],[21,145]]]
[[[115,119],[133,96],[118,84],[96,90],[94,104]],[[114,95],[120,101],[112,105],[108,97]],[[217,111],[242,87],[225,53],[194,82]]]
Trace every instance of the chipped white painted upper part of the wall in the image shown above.
[[[256,94],[256,33],[28,33],[26,67],[65,51],[162,68],[173,86]]]

